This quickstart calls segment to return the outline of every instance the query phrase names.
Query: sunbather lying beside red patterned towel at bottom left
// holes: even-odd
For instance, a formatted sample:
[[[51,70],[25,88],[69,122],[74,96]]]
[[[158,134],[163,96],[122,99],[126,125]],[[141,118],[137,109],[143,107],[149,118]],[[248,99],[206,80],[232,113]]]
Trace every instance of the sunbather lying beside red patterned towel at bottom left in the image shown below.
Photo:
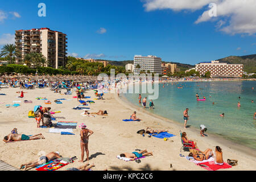
[[[39,159],[31,161],[27,164],[22,164],[20,166],[20,169],[24,168],[24,170],[26,171],[26,169],[28,167],[36,167],[36,166],[39,166],[41,164],[46,164],[49,161],[54,160],[54,159],[58,159],[58,158],[61,158],[61,156],[59,155],[59,152],[49,152],[49,154],[47,154],[45,156],[40,156]]]

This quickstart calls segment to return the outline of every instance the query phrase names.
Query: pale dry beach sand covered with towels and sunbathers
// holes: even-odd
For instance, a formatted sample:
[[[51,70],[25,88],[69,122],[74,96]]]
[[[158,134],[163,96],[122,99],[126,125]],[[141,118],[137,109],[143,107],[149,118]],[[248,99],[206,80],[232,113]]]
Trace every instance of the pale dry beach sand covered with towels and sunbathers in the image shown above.
[[[58,169],[63,171],[71,167],[79,167],[84,163],[78,162],[81,159],[80,150],[80,129],[73,130],[75,135],[60,135],[48,133],[49,129],[38,129],[34,118],[28,118],[28,111],[33,110],[35,105],[42,105],[51,107],[52,110],[60,110],[61,113],[53,114],[53,117],[65,117],[65,119],[57,119],[57,121],[77,121],[78,125],[84,122],[88,129],[92,130],[94,134],[89,137],[89,163],[94,163],[93,171],[108,169],[112,170],[205,170],[196,164],[188,161],[184,157],[181,158],[179,154],[185,156],[188,152],[180,152],[181,140],[179,130],[184,131],[183,125],[172,122],[166,118],[156,117],[148,114],[142,108],[135,107],[128,104],[125,99],[117,97],[116,94],[105,94],[105,100],[93,100],[93,90],[85,92],[85,96],[92,96],[89,100],[96,103],[90,104],[89,112],[97,112],[98,110],[107,110],[108,116],[83,117],[82,110],[73,110],[72,108],[79,105],[75,92],[72,95],[66,96],[59,93],[49,91],[49,88],[23,90],[24,98],[17,98],[20,96],[19,88],[1,89],[0,93],[6,93],[6,96],[0,96],[0,138],[3,139],[10,131],[16,127],[19,134],[39,134],[42,133],[46,139],[30,140],[22,142],[5,143],[0,142],[0,160],[19,168],[21,164],[31,160],[38,159],[40,151],[52,152],[59,151],[63,157],[77,156],[74,163]],[[62,91],[64,92],[64,90]],[[47,97],[52,101],[51,105],[45,105],[44,101],[36,100],[36,97]],[[55,104],[56,98],[66,98],[63,104]],[[32,104],[24,104],[24,100],[31,100]],[[13,104],[13,101],[22,101],[19,107],[6,108],[6,104]],[[85,100],[86,101],[86,100]],[[137,111],[137,117],[143,119],[141,122],[123,122],[122,119],[129,119],[133,111]],[[181,111],[181,115],[182,115]],[[56,123],[57,121],[53,121]],[[188,121],[189,125],[189,121]],[[153,127],[154,129],[168,129],[169,133],[176,135],[176,137],[169,138],[167,141],[163,139],[151,137],[147,135],[137,134],[138,130],[146,129],[146,127]],[[221,170],[255,170],[256,156],[250,150],[246,152],[240,150],[238,146],[232,142],[224,140],[213,134],[208,134],[208,137],[200,137],[199,130],[188,128],[185,130],[189,139],[194,139],[197,142],[200,150],[204,151],[207,148],[214,150],[215,146],[220,146],[223,151],[224,162],[227,159],[237,159],[238,166],[229,169]],[[171,142],[173,140],[174,142]],[[147,156],[141,159],[141,163],[125,162],[116,158],[122,152],[134,152],[135,149],[147,149],[153,152],[154,156]],[[246,148],[246,147],[244,147]],[[85,158],[86,159],[86,154]],[[172,168],[170,168],[172,164]],[[32,171],[35,170],[31,169]]]

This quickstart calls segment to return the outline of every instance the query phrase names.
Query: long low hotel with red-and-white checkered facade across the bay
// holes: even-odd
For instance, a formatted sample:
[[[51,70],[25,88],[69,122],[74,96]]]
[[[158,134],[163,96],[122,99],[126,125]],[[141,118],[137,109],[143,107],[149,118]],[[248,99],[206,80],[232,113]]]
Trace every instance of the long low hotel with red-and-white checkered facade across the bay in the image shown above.
[[[211,77],[242,77],[243,65],[211,61],[196,64],[196,71],[199,72],[200,75],[204,75],[209,71]]]

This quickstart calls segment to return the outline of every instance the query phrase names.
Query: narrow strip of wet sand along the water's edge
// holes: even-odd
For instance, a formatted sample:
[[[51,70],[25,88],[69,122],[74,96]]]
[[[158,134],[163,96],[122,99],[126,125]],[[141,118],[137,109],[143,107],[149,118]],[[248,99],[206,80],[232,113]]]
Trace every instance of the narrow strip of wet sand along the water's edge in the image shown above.
[[[115,98],[115,99],[117,99],[117,98]],[[122,105],[125,105],[125,106],[129,105],[131,108],[134,108],[134,110],[138,110],[141,113],[144,113],[144,114],[147,114],[147,115],[151,115],[151,117],[161,119],[162,121],[167,122],[170,125],[175,125],[176,127],[179,127],[180,130],[184,130],[183,129],[183,123],[179,123],[177,121],[173,121],[171,119],[162,117],[161,115],[150,113],[149,111],[143,109],[142,107],[139,107],[139,106],[133,104],[132,102],[127,100],[127,98],[125,96],[123,96],[123,95],[122,95],[121,100],[122,100]],[[196,129],[193,126],[190,126],[188,130],[192,131],[194,134],[200,134],[200,130]],[[184,130],[184,131],[187,131],[187,130]],[[227,139],[224,136],[218,135],[216,133],[208,132],[207,135],[208,135],[208,137],[210,135],[210,137],[212,139],[214,139],[215,142],[220,143],[222,146],[225,145],[226,147],[229,147],[230,149],[233,148],[236,151],[242,152],[244,154],[247,154],[247,155],[250,155],[250,156],[253,156],[253,157],[256,158],[255,150],[253,148],[244,146],[244,145],[242,145],[240,143],[233,142],[232,140]]]

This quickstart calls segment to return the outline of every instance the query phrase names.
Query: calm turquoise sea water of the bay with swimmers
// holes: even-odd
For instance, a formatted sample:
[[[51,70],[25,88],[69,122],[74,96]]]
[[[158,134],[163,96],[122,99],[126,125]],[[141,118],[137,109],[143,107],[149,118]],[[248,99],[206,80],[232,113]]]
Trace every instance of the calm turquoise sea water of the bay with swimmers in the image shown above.
[[[182,89],[177,88],[181,86]],[[196,101],[196,93],[207,100]],[[138,94],[123,95],[139,106]],[[142,98],[146,96],[148,98],[148,94],[142,94]],[[148,104],[149,101],[147,107]],[[187,126],[200,129],[203,124],[208,128],[207,132],[256,149],[256,120],[253,119],[256,81],[178,82],[165,84],[164,88],[163,84],[159,84],[159,98],[154,100],[154,105],[155,109],[147,108],[147,111],[180,123],[184,123],[183,111],[188,107],[190,119]],[[225,113],[224,118],[220,117],[222,113]]]

